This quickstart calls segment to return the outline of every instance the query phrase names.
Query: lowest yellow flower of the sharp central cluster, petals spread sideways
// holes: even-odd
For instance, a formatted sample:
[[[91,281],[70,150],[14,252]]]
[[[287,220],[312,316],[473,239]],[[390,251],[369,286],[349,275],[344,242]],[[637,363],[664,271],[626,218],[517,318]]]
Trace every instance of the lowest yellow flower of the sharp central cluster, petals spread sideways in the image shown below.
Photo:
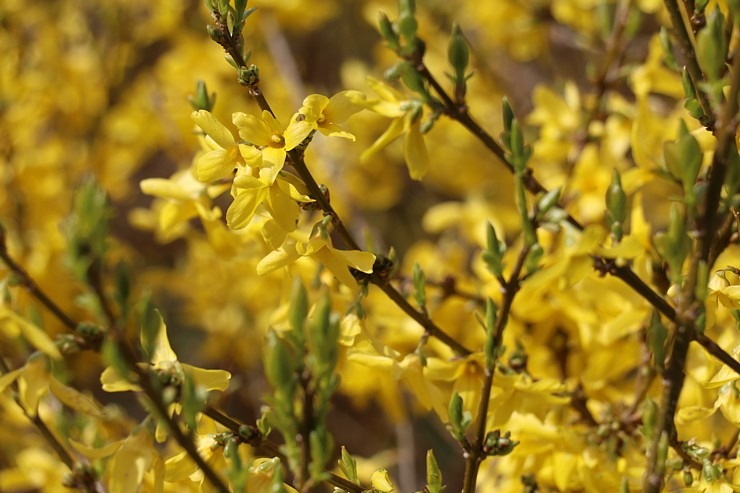
[[[375,262],[375,255],[369,252],[335,249],[328,236],[309,238],[304,233],[294,232],[288,235],[280,248],[260,260],[257,264],[257,273],[260,275],[270,273],[288,266],[300,257],[313,257],[349,287],[357,286],[357,281],[349,271],[350,268],[369,274],[373,271]]]

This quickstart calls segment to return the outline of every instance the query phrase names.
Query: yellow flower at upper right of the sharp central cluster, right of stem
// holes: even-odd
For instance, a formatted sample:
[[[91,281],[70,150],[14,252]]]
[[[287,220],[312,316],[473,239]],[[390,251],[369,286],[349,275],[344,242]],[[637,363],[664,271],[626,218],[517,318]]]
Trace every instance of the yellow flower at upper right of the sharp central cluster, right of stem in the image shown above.
[[[328,137],[344,137],[355,140],[355,136],[339,126],[350,116],[362,111],[361,104],[365,95],[359,91],[342,91],[331,99],[320,94],[312,94],[303,100],[303,106],[298,112],[305,117],[312,128]]]

